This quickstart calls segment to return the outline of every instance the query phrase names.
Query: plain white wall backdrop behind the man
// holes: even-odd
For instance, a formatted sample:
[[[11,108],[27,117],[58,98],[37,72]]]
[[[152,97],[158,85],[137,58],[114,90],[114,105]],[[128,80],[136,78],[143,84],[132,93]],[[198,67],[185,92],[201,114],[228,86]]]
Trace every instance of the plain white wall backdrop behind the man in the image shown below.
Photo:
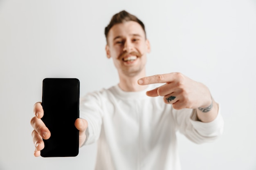
[[[81,95],[118,83],[103,30],[123,9],[146,25],[148,75],[182,72],[221,104],[216,142],[178,134],[183,170],[255,170],[255,0],[0,0],[0,170],[93,169],[95,144],[34,157],[30,119],[45,77],[79,78]]]

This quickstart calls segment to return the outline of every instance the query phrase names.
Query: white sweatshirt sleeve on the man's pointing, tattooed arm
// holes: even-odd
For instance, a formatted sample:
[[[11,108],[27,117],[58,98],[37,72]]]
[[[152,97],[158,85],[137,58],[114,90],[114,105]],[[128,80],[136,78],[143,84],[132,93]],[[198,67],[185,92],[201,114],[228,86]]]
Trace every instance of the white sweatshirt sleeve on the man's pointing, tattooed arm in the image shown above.
[[[197,121],[196,109],[174,110],[174,116],[178,130],[197,144],[211,142],[223,132],[224,121],[220,114],[220,106],[216,119],[208,123]]]

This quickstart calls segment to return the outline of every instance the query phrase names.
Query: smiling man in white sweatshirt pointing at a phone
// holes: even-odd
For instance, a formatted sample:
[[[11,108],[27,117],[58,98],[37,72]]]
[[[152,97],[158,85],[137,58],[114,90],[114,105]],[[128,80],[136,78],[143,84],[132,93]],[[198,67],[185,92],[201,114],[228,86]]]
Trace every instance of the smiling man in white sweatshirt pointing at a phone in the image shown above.
[[[144,24],[134,15],[115,14],[105,35],[106,54],[120,82],[81,98],[81,118],[75,121],[79,146],[98,141],[96,170],[179,170],[176,131],[195,143],[216,139],[223,128],[218,104],[206,86],[181,73],[145,77],[150,43]],[[158,83],[164,84],[156,87]],[[40,120],[40,102],[34,113],[38,157],[42,137],[48,139],[50,132]]]

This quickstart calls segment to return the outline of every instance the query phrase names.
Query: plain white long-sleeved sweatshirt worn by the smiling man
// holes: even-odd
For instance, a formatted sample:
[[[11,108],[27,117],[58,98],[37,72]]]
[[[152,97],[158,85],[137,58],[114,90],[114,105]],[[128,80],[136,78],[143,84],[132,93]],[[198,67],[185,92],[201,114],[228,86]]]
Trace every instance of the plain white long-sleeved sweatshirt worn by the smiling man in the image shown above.
[[[196,110],[175,110],[163,97],[119,86],[81,98],[80,117],[88,121],[85,144],[98,141],[95,170],[180,170],[176,132],[195,143],[216,139],[220,115],[210,123],[195,121]]]

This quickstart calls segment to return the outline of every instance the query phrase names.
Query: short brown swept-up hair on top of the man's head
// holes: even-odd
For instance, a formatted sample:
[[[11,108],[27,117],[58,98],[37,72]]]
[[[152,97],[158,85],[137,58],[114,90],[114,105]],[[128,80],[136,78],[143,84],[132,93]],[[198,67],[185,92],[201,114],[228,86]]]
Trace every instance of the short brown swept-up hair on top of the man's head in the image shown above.
[[[115,24],[120,24],[127,21],[135,21],[139,23],[142,29],[144,30],[145,37],[146,37],[146,31],[145,31],[145,26],[143,22],[141,22],[141,20],[139,20],[139,18],[137,18],[135,15],[132,15],[127,11],[120,11],[119,13],[116,13],[115,15],[112,16],[110,23],[108,24],[108,26],[106,26],[105,28],[106,39],[108,38],[108,32],[112,28],[112,26],[114,26]]]

